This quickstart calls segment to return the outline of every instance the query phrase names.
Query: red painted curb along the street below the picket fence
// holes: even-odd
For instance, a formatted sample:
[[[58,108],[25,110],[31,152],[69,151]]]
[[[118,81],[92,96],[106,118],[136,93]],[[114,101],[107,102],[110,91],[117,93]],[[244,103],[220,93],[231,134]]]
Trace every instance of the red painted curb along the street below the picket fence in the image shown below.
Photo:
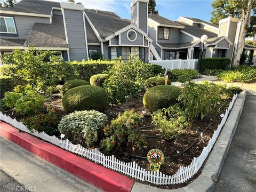
[[[0,122],[0,135],[105,191],[131,191],[134,181]]]

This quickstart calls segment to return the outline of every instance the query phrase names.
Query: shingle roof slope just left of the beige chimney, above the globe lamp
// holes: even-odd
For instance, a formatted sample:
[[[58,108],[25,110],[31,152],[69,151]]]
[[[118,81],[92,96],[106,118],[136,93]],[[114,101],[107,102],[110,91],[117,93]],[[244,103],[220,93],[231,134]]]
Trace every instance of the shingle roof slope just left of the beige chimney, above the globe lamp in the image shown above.
[[[191,34],[191,35],[194,35],[195,37],[198,37],[198,38],[201,38],[202,35],[207,35],[208,38],[214,38],[214,37],[217,37],[218,35],[209,31],[209,30],[205,30],[205,29],[202,29],[202,28],[199,28],[199,27],[195,27],[195,26],[190,26],[190,25],[185,25],[185,28],[183,28],[182,30]]]

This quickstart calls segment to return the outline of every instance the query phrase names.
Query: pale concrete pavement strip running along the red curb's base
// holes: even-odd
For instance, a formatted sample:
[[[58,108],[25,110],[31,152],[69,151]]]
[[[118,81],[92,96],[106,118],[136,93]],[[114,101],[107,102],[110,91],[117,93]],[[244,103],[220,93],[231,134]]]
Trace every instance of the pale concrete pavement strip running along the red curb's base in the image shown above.
[[[2,137],[0,137],[0,149],[1,170],[7,174],[5,175],[7,180],[10,180],[11,177],[15,181],[13,185],[4,185],[2,183],[4,180],[1,177],[1,186],[2,184],[5,186],[3,191],[21,191],[19,187],[17,188],[17,186],[21,185],[25,186],[29,191],[42,192],[100,191],[76,178],[73,174],[43,161],[29,153],[29,151]],[[18,185],[18,183],[20,184]]]

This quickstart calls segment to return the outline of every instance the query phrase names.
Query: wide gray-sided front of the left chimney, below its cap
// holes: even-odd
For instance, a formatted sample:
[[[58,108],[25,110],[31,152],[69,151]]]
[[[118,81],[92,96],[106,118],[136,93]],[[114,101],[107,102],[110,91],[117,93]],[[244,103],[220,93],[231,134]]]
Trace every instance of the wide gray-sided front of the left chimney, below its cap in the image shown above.
[[[64,10],[70,60],[87,60],[87,46],[84,33],[83,12],[75,10]]]

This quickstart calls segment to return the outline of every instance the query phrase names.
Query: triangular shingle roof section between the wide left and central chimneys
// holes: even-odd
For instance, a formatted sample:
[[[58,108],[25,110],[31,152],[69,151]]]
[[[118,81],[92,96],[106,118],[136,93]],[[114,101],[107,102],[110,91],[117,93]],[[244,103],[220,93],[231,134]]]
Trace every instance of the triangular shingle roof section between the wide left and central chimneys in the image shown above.
[[[102,39],[131,25],[130,20],[122,19],[113,12],[85,9],[85,13]]]

